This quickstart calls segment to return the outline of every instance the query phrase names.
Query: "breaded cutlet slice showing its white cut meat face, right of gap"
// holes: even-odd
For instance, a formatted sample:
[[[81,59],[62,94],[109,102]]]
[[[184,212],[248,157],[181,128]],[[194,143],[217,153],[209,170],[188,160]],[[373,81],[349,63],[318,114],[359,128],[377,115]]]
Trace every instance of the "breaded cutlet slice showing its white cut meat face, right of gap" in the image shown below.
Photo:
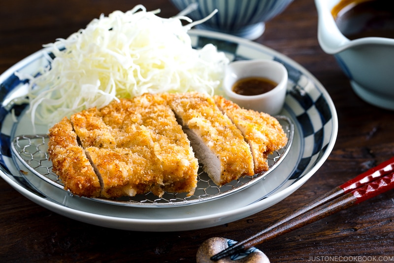
[[[164,94],[181,120],[204,171],[218,186],[253,175],[253,158],[241,132],[215,105],[197,93]]]

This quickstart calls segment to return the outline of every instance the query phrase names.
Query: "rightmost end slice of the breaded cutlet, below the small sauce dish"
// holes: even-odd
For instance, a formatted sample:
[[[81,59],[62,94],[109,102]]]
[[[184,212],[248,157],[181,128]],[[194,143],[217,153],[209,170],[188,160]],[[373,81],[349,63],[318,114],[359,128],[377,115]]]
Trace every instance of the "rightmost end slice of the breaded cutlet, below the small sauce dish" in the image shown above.
[[[246,110],[221,96],[214,96],[219,109],[223,111],[242,132],[253,154],[255,173],[267,171],[267,156],[283,148],[287,137],[279,121],[267,114]]]

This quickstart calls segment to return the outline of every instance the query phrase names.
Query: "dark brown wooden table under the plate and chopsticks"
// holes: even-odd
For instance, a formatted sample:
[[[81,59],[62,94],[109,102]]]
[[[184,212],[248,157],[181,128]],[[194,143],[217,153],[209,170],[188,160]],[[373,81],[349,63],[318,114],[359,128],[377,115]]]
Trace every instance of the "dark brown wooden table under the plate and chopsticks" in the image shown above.
[[[93,18],[144,2],[177,10],[168,0],[12,0],[0,2],[0,73],[41,48],[84,28]],[[394,112],[363,102],[317,41],[312,0],[296,0],[256,40],[292,58],[328,90],[339,120],[328,160],[295,193],[247,218],[207,229],[137,232],[81,223],[53,213],[0,179],[1,262],[194,262],[213,236],[241,240],[394,155]],[[275,262],[384,262],[394,256],[394,192],[389,191],[258,246]],[[342,258],[340,258],[342,257]],[[347,258],[346,258],[347,257]],[[343,261],[342,261],[343,262]]]

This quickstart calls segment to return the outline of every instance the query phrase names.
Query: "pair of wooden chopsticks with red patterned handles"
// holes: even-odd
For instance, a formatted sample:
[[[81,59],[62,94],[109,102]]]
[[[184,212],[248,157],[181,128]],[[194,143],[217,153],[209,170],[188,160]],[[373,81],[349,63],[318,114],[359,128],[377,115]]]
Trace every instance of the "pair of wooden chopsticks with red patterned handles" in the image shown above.
[[[276,236],[311,224],[340,210],[394,188],[394,157],[369,169],[320,198],[298,208],[257,234],[211,257],[217,261]]]

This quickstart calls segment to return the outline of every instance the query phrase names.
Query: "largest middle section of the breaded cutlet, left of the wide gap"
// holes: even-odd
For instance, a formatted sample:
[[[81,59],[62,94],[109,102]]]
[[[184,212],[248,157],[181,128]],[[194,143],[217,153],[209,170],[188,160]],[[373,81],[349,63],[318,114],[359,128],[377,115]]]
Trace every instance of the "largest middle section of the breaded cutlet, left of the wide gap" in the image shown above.
[[[113,101],[73,114],[71,121],[100,177],[102,196],[194,193],[197,159],[159,95]]]

